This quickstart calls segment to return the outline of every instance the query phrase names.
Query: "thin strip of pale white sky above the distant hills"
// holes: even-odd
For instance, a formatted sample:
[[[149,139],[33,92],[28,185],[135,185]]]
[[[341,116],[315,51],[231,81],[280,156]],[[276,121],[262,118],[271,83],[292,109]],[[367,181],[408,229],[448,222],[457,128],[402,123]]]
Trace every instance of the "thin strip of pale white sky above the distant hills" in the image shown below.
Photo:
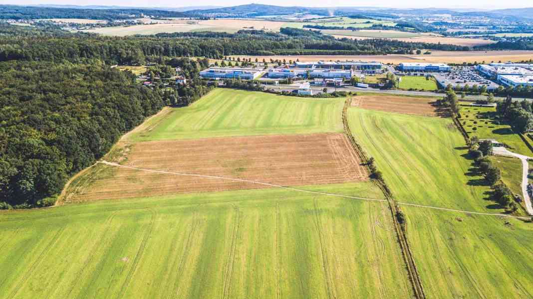
[[[13,4],[13,5],[98,5],[98,6],[132,6],[132,7],[188,7],[188,6],[235,6],[243,4],[267,4],[267,5],[278,5],[278,6],[305,6],[305,7],[379,7],[379,8],[398,8],[398,9],[419,9],[419,8],[440,8],[440,9],[477,9],[477,10],[492,10],[492,9],[515,9],[515,8],[526,8],[533,7],[530,0],[514,0],[512,2],[503,3],[501,1],[489,0],[483,1],[474,0],[465,4],[461,0],[450,0],[447,2],[446,6],[443,5],[427,5],[427,1],[424,0],[410,0],[406,2],[397,3],[397,5],[390,5],[389,1],[358,1],[353,3],[346,3],[344,1],[283,1],[283,0],[271,0],[271,1],[241,1],[241,0],[229,0],[225,2],[214,1],[214,0],[198,0],[194,2],[176,4],[172,0],[159,0],[151,1],[149,4],[144,1],[139,0],[116,0],[113,3],[104,0],[82,0],[82,1],[49,1],[49,0],[29,0],[29,1],[0,1],[0,4]],[[479,7],[475,7],[476,4]]]

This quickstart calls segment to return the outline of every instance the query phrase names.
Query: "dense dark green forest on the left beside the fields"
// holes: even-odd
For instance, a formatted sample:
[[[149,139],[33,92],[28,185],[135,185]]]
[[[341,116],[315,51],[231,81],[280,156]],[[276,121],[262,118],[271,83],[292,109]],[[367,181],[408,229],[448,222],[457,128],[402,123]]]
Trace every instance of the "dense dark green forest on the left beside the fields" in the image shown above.
[[[103,64],[0,63],[0,208],[55,202],[93,164],[166,102],[157,87]]]

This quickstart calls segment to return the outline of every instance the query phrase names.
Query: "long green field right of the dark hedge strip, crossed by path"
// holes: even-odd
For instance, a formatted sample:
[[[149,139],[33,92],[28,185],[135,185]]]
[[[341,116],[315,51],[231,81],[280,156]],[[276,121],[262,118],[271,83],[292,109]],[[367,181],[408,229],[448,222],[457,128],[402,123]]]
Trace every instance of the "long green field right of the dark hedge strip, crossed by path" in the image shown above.
[[[349,123],[399,202],[503,212],[484,199],[489,188],[472,175],[464,140],[450,119],[351,108]],[[429,298],[533,296],[530,223],[406,205],[401,209]]]

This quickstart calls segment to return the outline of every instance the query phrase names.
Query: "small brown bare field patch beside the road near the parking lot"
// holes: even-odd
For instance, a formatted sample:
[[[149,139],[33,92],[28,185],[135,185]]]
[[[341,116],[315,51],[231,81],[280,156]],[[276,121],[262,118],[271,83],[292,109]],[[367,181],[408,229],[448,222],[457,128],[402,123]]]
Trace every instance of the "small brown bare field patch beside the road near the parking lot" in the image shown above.
[[[449,117],[449,111],[432,105],[433,98],[389,96],[389,95],[361,95],[351,99],[352,106],[369,110],[398,112],[426,116]]]

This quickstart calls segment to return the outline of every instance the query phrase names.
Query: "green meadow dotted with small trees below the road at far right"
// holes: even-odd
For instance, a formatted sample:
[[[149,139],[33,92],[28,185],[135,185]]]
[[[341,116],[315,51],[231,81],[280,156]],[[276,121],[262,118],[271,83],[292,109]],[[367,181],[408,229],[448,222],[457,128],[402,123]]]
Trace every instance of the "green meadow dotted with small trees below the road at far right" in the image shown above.
[[[461,124],[469,136],[478,136],[481,139],[496,139],[508,145],[510,151],[522,155],[532,156],[526,143],[518,134],[515,134],[506,123],[496,119],[495,107],[461,107]]]

